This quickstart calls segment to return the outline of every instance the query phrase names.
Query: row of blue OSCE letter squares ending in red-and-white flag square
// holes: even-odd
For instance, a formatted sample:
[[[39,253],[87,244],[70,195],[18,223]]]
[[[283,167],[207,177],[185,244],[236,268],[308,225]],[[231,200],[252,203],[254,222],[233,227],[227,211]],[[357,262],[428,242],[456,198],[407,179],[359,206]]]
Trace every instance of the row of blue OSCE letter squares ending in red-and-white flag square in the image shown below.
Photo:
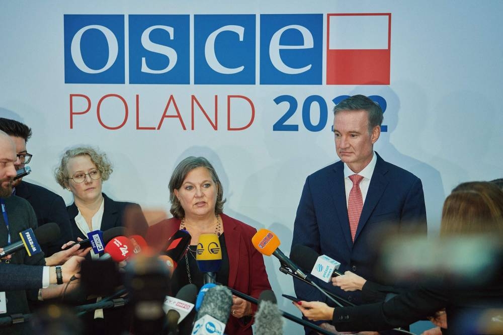
[[[64,15],[65,83],[321,85],[325,52],[327,84],[389,84],[389,43],[378,53],[336,43],[330,25],[347,25],[338,14],[326,15],[326,34],[323,14],[193,17],[192,28],[190,15]]]

